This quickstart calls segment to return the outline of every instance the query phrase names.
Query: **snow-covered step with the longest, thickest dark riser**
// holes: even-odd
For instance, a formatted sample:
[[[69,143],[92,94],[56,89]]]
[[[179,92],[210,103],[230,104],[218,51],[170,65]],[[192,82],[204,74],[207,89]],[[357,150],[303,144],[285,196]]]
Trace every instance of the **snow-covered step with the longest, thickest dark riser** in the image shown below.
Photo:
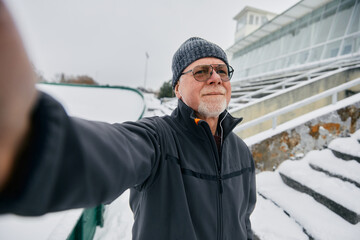
[[[288,186],[309,194],[346,221],[359,222],[360,189],[354,184],[311,169],[307,156],[300,161],[285,161],[278,170]]]

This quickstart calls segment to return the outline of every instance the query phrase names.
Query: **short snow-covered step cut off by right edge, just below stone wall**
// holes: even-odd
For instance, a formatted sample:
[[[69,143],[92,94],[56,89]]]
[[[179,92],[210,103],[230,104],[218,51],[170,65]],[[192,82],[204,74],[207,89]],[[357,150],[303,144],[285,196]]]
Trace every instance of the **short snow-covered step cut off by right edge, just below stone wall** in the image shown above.
[[[329,144],[335,156],[360,163],[360,143],[355,137],[336,138]]]

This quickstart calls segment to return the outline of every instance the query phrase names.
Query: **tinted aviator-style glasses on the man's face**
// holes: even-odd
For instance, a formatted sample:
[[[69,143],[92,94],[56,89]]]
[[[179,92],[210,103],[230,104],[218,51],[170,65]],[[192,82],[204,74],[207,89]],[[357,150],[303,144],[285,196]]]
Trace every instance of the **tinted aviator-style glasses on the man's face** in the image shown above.
[[[181,75],[192,72],[196,81],[205,82],[211,78],[213,71],[219,74],[222,81],[230,81],[234,69],[226,64],[198,65],[192,70],[181,73]]]

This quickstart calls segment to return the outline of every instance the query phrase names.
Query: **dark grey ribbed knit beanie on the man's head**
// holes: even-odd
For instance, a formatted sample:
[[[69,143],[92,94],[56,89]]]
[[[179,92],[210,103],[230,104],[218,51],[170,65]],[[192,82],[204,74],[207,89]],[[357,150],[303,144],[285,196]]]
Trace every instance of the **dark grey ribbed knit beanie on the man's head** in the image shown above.
[[[215,57],[224,61],[226,65],[229,65],[226,53],[218,45],[199,37],[189,38],[180,46],[173,56],[173,89],[184,69],[192,62],[204,57]]]

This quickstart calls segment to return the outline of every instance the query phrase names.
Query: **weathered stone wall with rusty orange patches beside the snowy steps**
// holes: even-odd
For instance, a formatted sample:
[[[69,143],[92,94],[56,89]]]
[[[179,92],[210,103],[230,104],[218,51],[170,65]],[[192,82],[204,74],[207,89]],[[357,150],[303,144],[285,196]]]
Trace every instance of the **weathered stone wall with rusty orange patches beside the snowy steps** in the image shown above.
[[[258,171],[270,171],[287,159],[326,147],[336,137],[360,129],[360,102],[328,113],[250,146]]]

